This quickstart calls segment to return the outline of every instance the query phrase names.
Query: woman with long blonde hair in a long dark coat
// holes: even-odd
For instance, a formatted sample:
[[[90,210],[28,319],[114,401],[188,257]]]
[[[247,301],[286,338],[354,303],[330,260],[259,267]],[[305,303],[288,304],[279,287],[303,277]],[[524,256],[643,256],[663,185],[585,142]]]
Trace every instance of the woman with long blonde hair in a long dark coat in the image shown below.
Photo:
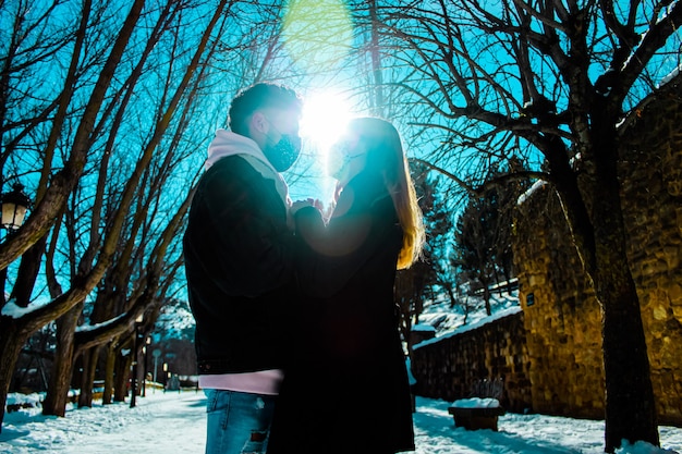
[[[331,158],[338,185],[328,223],[314,207],[292,210],[309,297],[268,453],[413,451],[393,300],[395,270],[416,260],[424,240],[407,161],[395,128],[375,118],[351,121]]]

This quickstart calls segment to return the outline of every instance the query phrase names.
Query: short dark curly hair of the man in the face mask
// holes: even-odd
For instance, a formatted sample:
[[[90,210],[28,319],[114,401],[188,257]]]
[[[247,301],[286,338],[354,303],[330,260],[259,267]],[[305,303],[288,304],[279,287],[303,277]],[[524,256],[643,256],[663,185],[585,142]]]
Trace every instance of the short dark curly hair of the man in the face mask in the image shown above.
[[[228,127],[235,134],[248,136],[247,119],[258,109],[292,109],[301,113],[303,101],[291,88],[271,83],[258,83],[241,90],[228,112]]]

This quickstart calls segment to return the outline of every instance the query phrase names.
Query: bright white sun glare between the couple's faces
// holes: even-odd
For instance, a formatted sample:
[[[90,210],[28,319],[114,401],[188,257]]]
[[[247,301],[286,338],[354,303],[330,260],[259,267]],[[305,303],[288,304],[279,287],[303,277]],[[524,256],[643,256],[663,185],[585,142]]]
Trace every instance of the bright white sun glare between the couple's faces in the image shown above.
[[[350,103],[332,93],[306,96],[301,119],[301,136],[324,155],[339,138],[351,119]]]

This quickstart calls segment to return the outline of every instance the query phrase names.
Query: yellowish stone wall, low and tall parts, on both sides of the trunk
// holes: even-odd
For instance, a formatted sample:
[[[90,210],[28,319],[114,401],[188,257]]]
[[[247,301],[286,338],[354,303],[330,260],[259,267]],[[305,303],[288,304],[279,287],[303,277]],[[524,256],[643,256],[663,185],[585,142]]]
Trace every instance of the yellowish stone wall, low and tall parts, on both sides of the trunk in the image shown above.
[[[682,426],[682,76],[621,132],[628,253],[659,422]],[[415,348],[417,394],[453,401],[504,377],[511,412],[604,418],[600,307],[550,186],[520,204],[514,231],[523,312]]]

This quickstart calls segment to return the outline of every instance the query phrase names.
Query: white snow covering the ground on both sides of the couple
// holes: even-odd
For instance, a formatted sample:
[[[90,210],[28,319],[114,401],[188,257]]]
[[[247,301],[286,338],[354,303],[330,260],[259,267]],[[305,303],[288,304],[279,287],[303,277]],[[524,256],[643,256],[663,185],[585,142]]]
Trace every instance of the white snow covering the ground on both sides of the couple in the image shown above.
[[[333,402],[333,396],[329,396]],[[205,443],[203,392],[148,392],[129,403],[93,408],[70,408],[64,418],[41,416],[29,408],[7,414],[0,433],[0,453],[73,454],[202,454]],[[499,431],[455,428],[448,414],[450,403],[417,397],[414,414],[418,454],[577,454],[604,452],[604,422],[541,415],[507,414]],[[372,402],[357,408],[381,409]],[[657,450],[638,443],[619,454],[682,453],[682,429],[661,427]],[[349,453],[352,454],[352,453]]]

